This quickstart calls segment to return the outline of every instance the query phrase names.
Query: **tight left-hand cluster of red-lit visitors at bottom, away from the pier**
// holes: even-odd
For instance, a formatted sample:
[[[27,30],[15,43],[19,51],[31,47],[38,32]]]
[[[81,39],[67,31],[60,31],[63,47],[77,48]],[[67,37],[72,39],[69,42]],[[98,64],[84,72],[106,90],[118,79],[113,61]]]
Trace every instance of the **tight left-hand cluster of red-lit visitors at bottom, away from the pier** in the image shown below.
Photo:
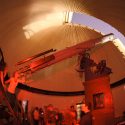
[[[62,125],[62,113],[52,104],[43,108],[35,107],[32,112],[34,125]]]

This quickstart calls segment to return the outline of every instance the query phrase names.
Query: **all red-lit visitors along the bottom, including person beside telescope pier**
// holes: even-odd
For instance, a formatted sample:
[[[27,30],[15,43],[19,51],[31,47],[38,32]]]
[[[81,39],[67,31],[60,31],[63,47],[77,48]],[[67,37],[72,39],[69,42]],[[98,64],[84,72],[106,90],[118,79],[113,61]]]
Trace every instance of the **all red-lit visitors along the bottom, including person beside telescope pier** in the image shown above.
[[[77,119],[74,105],[59,111],[52,104],[44,108],[35,107],[32,112],[34,125],[92,125],[92,115],[86,104],[81,105],[81,118]]]

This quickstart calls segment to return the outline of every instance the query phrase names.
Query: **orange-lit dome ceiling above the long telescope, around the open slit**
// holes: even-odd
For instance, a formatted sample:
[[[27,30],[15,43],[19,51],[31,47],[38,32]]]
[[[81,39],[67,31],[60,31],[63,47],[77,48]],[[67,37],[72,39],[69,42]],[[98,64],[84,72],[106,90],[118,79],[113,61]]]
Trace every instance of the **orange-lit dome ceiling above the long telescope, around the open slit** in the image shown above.
[[[85,26],[63,24],[64,11],[95,16],[125,34],[124,0],[108,0],[107,2],[103,0],[12,0],[11,2],[1,0],[0,46],[10,71],[15,70],[17,61],[39,52],[51,48],[60,50],[101,36],[100,33]],[[28,39],[26,34],[29,35]],[[72,60],[64,62],[66,63],[60,63],[61,67],[75,64]],[[60,67],[58,64],[56,66]],[[53,67],[54,72],[62,70],[60,68],[55,70]],[[37,73],[37,78],[41,77],[41,74],[46,77],[45,74],[54,72],[41,71]],[[63,79],[62,76],[60,78]]]

